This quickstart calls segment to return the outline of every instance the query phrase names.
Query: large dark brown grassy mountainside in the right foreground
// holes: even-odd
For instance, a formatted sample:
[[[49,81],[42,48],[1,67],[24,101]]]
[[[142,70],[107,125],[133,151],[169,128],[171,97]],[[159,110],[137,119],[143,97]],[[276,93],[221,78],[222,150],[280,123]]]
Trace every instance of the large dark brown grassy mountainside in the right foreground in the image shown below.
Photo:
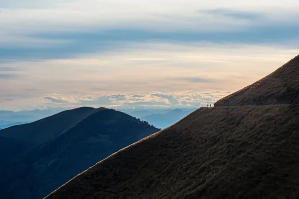
[[[272,75],[264,88],[273,84]],[[285,96],[292,95],[289,91]],[[46,199],[299,198],[299,104],[252,94],[243,101],[262,96],[273,104],[240,105],[234,96],[242,95],[236,93],[223,106],[220,100],[216,107],[199,108],[97,163]]]

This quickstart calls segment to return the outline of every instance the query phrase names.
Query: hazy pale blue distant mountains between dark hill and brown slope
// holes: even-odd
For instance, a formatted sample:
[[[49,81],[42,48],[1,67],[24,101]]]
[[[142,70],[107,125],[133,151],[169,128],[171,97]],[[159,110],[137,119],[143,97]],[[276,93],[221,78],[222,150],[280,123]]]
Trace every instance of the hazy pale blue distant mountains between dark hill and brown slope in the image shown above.
[[[158,113],[146,115],[144,117],[141,117],[140,119],[148,121],[150,124],[153,124],[154,126],[163,129],[184,118],[194,110],[196,110],[196,108],[174,109],[162,114]]]

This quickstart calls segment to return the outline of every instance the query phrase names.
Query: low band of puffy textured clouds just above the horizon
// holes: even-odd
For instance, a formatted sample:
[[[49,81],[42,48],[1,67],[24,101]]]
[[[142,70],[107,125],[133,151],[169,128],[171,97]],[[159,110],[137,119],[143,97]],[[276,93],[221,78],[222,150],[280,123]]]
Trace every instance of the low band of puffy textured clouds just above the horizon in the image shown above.
[[[154,108],[154,107],[199,107],[206,103],[214,103],[231,92],[209,93],[149,93],[134,95],[108,95],[108,96],[61,96],[58,94],[43,97],[55,103],[68,103],[69,105],[92,105],[95,107],[118,108]]]

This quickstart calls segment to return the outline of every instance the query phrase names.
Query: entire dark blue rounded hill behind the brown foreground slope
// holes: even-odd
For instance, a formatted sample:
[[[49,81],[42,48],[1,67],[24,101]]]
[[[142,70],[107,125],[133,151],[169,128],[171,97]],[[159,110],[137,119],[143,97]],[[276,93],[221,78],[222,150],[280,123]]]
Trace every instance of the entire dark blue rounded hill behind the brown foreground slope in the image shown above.
[[[43,198],[98,161],[157,131],[123,112],[91,107],[2,129],[0,198]]]

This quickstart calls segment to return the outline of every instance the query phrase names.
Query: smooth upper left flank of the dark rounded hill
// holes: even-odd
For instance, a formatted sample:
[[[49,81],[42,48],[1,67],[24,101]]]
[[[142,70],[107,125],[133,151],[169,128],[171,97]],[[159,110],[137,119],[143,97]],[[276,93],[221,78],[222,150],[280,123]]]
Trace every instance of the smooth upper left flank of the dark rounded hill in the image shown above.
[[[91,107],[66,110],[29,124],[12,126],[0,130],[0,136],[22,140],[30,144],[42,144],[67,131],[98,110]]]

